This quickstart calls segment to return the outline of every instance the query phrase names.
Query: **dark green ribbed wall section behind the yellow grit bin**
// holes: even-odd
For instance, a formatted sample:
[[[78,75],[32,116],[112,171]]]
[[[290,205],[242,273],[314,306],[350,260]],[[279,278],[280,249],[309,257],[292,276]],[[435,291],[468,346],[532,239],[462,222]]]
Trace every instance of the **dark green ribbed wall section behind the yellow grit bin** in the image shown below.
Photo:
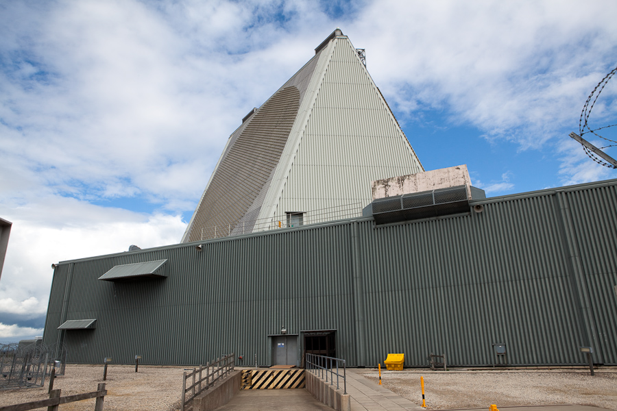
[[[426,366],[581,362],[581,331],[551,196],[485,204],[481,214],[372,228],[363,224],[368,358],[405,353]],[[374,235],[370,235],[374,232]],[[375,259],[374,254],[380,255]],[[372,349],[371,349],[372,347]]]

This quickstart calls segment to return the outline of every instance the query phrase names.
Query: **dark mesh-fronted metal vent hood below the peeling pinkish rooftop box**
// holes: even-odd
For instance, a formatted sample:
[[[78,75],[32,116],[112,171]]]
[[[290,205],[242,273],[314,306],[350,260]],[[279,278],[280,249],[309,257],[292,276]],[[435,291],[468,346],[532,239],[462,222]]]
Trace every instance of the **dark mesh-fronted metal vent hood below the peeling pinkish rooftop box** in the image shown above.
[[[467,186],[439,188],[376,199],[371,203],[377,224],[426,219],[469,211]]]

